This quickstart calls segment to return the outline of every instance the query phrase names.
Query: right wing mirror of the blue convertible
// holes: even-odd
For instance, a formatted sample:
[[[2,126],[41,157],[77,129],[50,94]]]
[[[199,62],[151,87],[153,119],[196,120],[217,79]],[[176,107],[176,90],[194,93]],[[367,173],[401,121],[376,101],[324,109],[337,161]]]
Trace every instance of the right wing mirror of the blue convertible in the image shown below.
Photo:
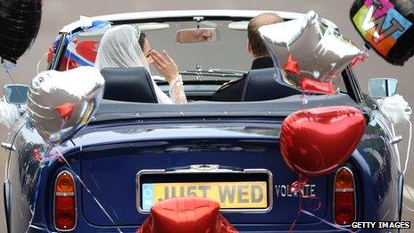
[[[369,96],[382,98],[393,96],[397,93],[398,80],[393,78],[368,79]]]

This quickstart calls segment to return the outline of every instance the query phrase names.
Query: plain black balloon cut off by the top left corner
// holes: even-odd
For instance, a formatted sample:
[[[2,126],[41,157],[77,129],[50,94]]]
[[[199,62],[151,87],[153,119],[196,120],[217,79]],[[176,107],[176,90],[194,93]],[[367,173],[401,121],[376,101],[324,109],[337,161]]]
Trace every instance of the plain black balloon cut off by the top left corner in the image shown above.
[[[42,0],[0,1],[0,57],[16,63],[37,37]]]

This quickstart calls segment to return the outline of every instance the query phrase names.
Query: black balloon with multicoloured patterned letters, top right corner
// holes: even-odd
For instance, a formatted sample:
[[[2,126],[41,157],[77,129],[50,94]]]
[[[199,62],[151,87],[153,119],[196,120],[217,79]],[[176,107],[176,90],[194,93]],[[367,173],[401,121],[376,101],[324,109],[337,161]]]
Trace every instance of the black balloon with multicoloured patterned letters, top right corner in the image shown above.
[[[356,0],[350,17],[360,36],[385,61],[403,65],[414,54],[413,0]]]

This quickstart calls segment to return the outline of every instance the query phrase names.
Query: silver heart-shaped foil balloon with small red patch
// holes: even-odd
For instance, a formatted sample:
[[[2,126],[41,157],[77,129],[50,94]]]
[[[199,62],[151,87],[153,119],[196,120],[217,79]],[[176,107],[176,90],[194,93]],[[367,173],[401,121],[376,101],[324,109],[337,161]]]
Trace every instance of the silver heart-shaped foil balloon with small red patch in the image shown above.
[[[103,95],[104,77],[93,67],[44,71],[29,88],[29,119],[46,143],[56,146],[87,124]]]

